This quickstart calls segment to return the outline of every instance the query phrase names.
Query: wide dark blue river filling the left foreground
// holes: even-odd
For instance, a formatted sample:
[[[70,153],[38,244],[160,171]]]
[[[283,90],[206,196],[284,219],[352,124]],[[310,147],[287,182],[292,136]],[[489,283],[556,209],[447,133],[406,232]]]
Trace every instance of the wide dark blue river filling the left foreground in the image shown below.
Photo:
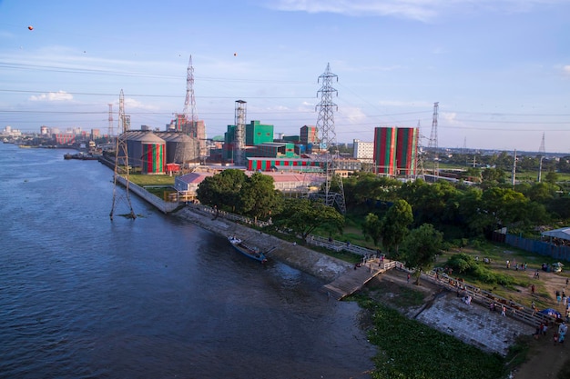
[[[112,171],[66,153],[0,145],[1,378],[370,377],[357,304],[136,195],[111,221]]]

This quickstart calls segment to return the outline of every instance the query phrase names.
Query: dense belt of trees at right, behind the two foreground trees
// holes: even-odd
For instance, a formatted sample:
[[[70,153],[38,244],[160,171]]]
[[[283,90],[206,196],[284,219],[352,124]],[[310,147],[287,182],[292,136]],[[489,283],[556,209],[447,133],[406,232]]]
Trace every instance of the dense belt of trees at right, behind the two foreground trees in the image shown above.
[[[392,204],[405,200],[412,207],[412,226],[433,224],[454,238],[477,237],[499,227],[528,233],[536,225],[570,218],[570,197],[560,194],[558,185],[483,184],[468,186],[443,180],[427,184],[421,179],[402,184],[361,173],[344,181],[344,189],[347,209],[353,214],[368,217],[366,214],[372,213],[382,218]],[[367,234],[374,236],[370,230]]]

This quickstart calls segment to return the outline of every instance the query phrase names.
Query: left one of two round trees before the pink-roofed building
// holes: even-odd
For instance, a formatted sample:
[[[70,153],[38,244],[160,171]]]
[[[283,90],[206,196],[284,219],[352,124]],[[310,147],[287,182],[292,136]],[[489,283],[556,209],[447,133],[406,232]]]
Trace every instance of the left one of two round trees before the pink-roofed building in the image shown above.
[[[248,176],[243,171],[231,168],[219,174],[205,178],[196,195],[202,204],[216,206],[220,210],[235,212],[240,202],[241,187],[246,183]]]

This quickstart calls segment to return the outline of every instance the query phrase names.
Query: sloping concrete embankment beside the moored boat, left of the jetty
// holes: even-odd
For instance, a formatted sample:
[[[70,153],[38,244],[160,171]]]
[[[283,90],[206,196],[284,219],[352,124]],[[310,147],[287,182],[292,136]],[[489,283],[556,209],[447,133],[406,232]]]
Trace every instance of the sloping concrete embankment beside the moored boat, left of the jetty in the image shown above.
[[[291,244],[270,234],[260,233],[226,219],[215,218],[212,214],[201,213],[197,208],[191,206],[183,208],[173,215],[222,236],[235,235],[243,241],[258,246],[261,251],[275,247],[268,254],[269,259],[276,259],[323,281],[332,281],[351,268],[351,264],[340,259],[317,253],[299,244]]]

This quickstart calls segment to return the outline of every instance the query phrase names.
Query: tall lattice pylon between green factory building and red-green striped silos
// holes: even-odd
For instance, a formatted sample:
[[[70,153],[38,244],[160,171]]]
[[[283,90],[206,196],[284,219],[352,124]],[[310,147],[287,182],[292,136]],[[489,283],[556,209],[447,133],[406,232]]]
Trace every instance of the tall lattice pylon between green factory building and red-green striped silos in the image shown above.
[[[339,147],[334,130],[334,111],[338,110],[338,105],[332,102],[332,95],[338,95],[338,91],[332,87],[333,79],[338,82],[339,76],[332,74],[331,65],[327,64],[326,71],[318,79],[318,83],[322,83],[322,86],[318,91],[321,94],[321,102],[316,105],[316,109],[319,112],[316,127],[317,131],[321,132],[321,148],[324,149],[324,201],[329,206],[337,204],[341,213],[344,214],[346,212],[344,186],[342,185],[341,175],[336,175],[335,173],[336,168],[339,166]],[[334,147],[334,153],[329,152],[331,147]],[[336,182],[339,192],[331,190],[333,181]]]

